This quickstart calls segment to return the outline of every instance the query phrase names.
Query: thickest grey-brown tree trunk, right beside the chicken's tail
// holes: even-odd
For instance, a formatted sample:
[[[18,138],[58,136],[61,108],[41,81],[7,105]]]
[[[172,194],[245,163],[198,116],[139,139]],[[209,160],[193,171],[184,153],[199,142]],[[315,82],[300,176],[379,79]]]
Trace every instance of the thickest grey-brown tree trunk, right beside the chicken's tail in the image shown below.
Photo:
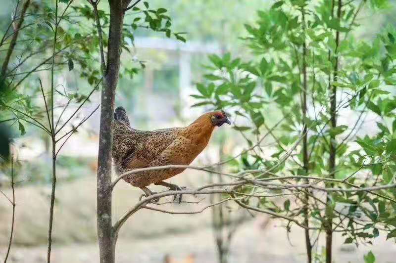
[[[124,11],[122,2],[109,0],[110,28],[107,47],[107,69],[101,92],[98,153],[97,217],[100,263],[114,262],[115,238],[111,224],[111,147],[115,89],[118,83]]]

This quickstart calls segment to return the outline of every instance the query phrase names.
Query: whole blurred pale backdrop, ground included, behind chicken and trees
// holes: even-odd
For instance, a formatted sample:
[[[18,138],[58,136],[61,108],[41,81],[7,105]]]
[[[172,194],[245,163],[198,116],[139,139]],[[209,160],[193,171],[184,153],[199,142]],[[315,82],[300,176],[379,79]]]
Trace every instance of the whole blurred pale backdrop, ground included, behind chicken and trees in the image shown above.
[[[77,1],[83,3],[84,1]],[[239,40],[245,35],[244,24],[254,21],[256,11],[268,8],[267,0],[150,0],[151,6],[165,7],[172,17],[175,31],[187,32],[186,43],[163,38],[161,34],[138,30],[135,34],[135,56],[123,55],[124,64],[136,59],[145,62],[146,68],[131,79],[126,74],[120,78],[116,106],[126,108],[132,127],[153,130],[185,126],[202,113],[202,108],[192,108],[196,103],[191,94],[195,83],[202,78],[207,55],[231,52],[244,57],[254,54]],[[395,1],[393,1],[395,3]],[[39,1],[38,1],[39,3]],[[9,19],[14,8],[12,0],[0,0],[0,21]],[[358,22],[362,26],[356,38],[371,39],[386,23],[396,24],[396,7],[373,15],[364,11]],[[6,23],[0,23],[0,32]],[[130,61],[130,62],[129,62]],[[124,65],[125,66],[125,65]],[[49,83],[49,72],[39,73],[44,83]],[[56,80],[57,84],[80,90],[91,87],[70,71]],[[84,106],[80,120],[88,115],[100,100],[94,93],[91,103]],[[65,115],[73,112],[70,106]],[[209,109],[208,109],[209,110]],[[271,116],[266,116],[271,118]],[[76,120],[76,124],[79,119]],[[48,137],[35,128],[16,138],[12,148],[18,162],[23,165],[16,171],[16,221],[15,239],[10,262],[44,262],[46,259],[48,210],[50,197],[50,149]],[[58,157],[58,185],[55,199],[53,230],[53,262],[99,261],[96,228],[96,172],[99,137],[99,111],[63,147]],[[220,153],[233,155],[243,150],[243,138],[229,127],[218,129],[209,146],[194,161],[204,165],[219,161]],[[271,139],[264,143],[271,143]],[[186,171],[170,182],[194,188],[210,182],[213,175]],[[0,174],[0,189],[11,194],[9,176]],[[151,190],[163,190],[158,186]],[[134,205],[141,190],[125,182],[117,185],[113,196],[113,215],[121,216]],[[197,201],[200,197],[188,197]],[[208,196],[201,204],[209,204]],[[169,205],[174,210],[185,211],[200,205]],[[0,259],[9,238],[11,206],[0,196]],[[220,247],[229,250],[228,262],[303,262],[303,231],[294,229],[290,235],[281,222],[260,215],[252,217],[235,207],[225,207],[219,221],[216,209],[197,215],[168,215],[155,211],[139,211],[121,230],[116,249],[117,262],[147,263],[215,263],[221,262]],[[217,213],[217,214],[216,214]],[[76,223],[78,222],[78,223]],[[374,246],[356,248],[340,245],[341,236],[335,236],[336,262],[363,262],[363,255],[372,250],[378,262],[395,262],[395,244],[377,240]],[[339,242],[337,242],[339,240]],[[226,244],[226,245],[224,245]],[[318,253],[321,253],[318,251]],[[131,256],[132,255],[132,256]],[[223,259],[222,259],[223,260]],[[222,261],[225,263],[227,261]]]

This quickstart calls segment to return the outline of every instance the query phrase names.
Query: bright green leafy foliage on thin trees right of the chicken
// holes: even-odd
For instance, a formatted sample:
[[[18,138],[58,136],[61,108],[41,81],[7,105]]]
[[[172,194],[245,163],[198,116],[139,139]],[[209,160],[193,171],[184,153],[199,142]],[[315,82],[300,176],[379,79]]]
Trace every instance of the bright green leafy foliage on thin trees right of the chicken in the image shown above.
[[[329,228],[330,219],[333,230],[343,231],[345,243],[358,245],[371,243],[379,236],[378,229],[386,231],[388,238],[396,233],[395,188],[375,193],[348,191],[395,183],[396,99],[389,91],[396,84],[396,31],[389,26],[371,41],[355,38],[355,18],[365,1],[342,2],[340,16],[335,14],[338,3],[333,3],[334,10],[329,0],[314,4],[285,0],[258,11],[256,22],[245,25],[248,35],[242,38],[255,58],[244,61],[230,53],[209,56],[208,73],[197,84],[198,94],[192,96],[198,100],[194,106],[233,113],[234,128],[244,134],[249,148],[233,162],[237,172],[261,169],[262,173],[247,178],[288,176],[283,182],[295,184],[304,176],[327,179],[334,175],[331,183],[319,180],[316,184],[340,189],[328,192],[326,201],[321,191],[280,188],[274,192],[292,194],[285,196],[283,206],[264,197],[257,205],[255,198],[245,197],[246,204],[301,224],[308,218],[309,225],[321,229]],[[371,5],[377,9],[385,3],[371,1]],[[336,107],[332,109],[329,102],[334,90]],[[274,131],[269,131],[273,120],[267,116],[271,115],[281,120]],[[377,123],[365,127],[369,130],[365,134],[362,126],[367,116]],[[333,118],[338,119],[336,126]],[[304,144],[300,142],[303,127],[307,153],[304,147],[292,147]],[[271,156],[257,146],[267,132],[277,144]],[[331,147],[336,149],[334,171],[329,168]],[[288,149],[292,149],[291,157]],[[289,158],[284,160],[284,156]],[[255,191],[247,187],[243,193]],[[375,259],[371,254],[365,260]]]

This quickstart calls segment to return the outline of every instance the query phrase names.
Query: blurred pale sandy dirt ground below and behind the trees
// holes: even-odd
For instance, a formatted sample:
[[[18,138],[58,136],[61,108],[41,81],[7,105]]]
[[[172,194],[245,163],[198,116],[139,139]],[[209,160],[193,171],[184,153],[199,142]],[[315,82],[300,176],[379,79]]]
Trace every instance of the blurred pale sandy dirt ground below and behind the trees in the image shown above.
[[[185,175],[181,185],[200,184],[197,174]],[[198,177],[199,178],[199,177]],[[191,183],[194,181],[194,183]],[[96,244],[96,187],[95,177],[59,183],[53,232],[53,263],[97,263]],[[156,190],[153,188],[153,190]],[[157,189],[160,190],[160,189]],[[7,192],[6,192],[7,193]],[[72,194],[71,194],[72,193]],[[114,218],[118,218],[136,202],[139,189],[125,183],[117,185],[113,199]],[[42,263],[46,257],[48,222],[47,186],[17,188],[15,243],[9,263]],[[194,197],[190,197],[194,198]],[[3,198],[5,199],[5,198]],[[204,201],[203,201],[204,202]],[[199,206],[193,204],[194,206]],[[204,204],[201,204],[204,205]],[[175,210],[191,209],[192,204],[172,205]],[[198,209],[198,207],[196,207]],[[0,262],[9,237],[10,206],[0,200]],[[117,243],[118,263],[215,263],[216,247],[210,228],[210,211],[197,215],[168,215],[139,211],[121,229]],[[267,223],[269,222],[269,223]],[[292,228],[289,235],[282,222],[258,216],[246,221],[234,235],[230,263],[303,263],[303,232]],[[344,238],[335,235],[334,262],[363,263],[363,255],[372,250],[376,263],[394,263],[396,245],[381,234],[374,245],[342,245]],[[322,253],[319,240],[316,253]]]

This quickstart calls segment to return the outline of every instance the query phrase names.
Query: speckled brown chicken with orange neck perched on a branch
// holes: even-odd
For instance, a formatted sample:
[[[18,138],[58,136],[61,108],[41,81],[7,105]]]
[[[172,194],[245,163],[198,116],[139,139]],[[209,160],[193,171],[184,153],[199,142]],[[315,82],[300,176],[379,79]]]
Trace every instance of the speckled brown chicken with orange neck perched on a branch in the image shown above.
[[[140,131],[130,127],[125,109],[118,107],[114,113],[112,147],[116,173],[121,175],[138,168],[164,165],[189,165],[206,147],[214,128],[224,123],[231,124],[225,112],[213,111],[201,115],[187,127]],[[154,194],[147,188],[152,183],[171,190],[182,190],[183,187],[164,180],[184,170],[172,168],[145,171],[125,176],[123,179],[140,187],[148,196]],[[179,195],[179,203],[181,199],[182,196]]]

